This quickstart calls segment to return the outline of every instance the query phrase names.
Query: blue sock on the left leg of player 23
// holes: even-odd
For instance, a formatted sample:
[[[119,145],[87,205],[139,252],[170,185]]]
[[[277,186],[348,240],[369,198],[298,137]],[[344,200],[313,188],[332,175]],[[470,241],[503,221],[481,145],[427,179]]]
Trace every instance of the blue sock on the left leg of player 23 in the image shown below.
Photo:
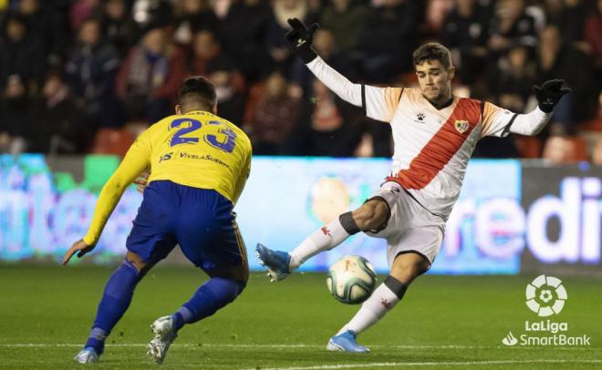
[[[138,282],[140,274],[129,261],[121,263],[113,272],[105,285],[86,347],[93,347],[99,354],[102,353],[105,338],[130,306]]]

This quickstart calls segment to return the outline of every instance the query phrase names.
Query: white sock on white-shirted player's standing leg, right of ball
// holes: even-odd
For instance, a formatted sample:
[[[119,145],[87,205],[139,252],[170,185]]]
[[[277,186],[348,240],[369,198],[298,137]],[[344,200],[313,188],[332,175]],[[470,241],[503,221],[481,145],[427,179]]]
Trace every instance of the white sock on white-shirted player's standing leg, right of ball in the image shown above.
[[[348,330],[352,330],[356,334],[363,332],[370,325],[376,324],[382,319],[385,313],[388,313],[398,302],[400,302],[400,298],[391,292],[385,283],[381,283],[368,300],[361,305],[358,313],[338,331],[337,335]]]

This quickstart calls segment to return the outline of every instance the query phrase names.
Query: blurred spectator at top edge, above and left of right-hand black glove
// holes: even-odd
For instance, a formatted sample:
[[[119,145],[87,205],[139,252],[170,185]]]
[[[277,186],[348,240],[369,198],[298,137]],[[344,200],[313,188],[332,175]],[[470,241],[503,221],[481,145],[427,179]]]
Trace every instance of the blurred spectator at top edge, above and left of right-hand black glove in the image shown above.
[[[537,36],[535,18],[524,11],[524,0],[500,0],[489,34],[493,57],[505,53],[512,46],[535,46]]]

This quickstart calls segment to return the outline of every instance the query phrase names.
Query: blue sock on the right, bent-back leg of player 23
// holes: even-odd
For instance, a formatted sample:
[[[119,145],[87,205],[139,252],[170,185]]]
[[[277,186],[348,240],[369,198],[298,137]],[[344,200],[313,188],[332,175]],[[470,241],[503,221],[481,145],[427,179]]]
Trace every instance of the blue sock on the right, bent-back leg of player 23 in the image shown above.
[[[173,313],[176,330],[211,316],[243,292],[244,284],[231,279],[211,278],[182,307]]]

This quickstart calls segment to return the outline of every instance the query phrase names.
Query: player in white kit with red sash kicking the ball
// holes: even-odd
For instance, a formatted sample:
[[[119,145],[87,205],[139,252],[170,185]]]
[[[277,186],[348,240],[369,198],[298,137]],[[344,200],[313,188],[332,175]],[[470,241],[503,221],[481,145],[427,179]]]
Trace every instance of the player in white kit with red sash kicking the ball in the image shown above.
[[[535,87],[538,107],[516,114],[491,103],[452,95],[454,67],[445,46],[430,43],[413,54],[419,88],[354,84],[329,67],[311,47],[317,24],[289,19],[286,40],[306,66],[338,97],[361,107],[369,118],[389,122],[395,150],[389,176],[368,201],[309,235],[292,252],[257,245],[272,280],[282,280],[308,258],[364,231],[387,240],[389,276],[358,313],[330,338],[330,351],[368,352],[357,335],[377,323],[431,267],[441,247],[445,221],[458,199],[477,141],[510,132],[536,135],[568,88],[564,81]]]

